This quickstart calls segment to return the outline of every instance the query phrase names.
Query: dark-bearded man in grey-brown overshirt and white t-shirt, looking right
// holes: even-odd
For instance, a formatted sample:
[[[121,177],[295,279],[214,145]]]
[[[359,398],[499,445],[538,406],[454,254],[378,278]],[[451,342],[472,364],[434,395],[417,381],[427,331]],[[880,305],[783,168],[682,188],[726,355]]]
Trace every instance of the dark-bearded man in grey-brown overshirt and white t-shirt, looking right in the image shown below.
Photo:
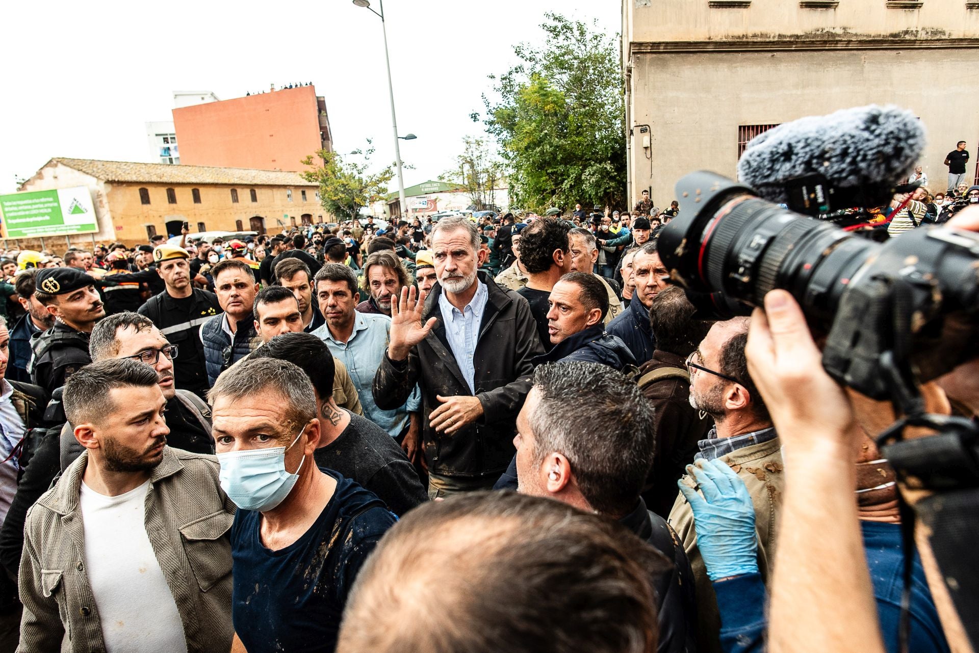
[[[27,513],[19,651],[227,651],[235,504],[217,460],[166,446],[158,372],[131,359],[70,376],[85,452]]]

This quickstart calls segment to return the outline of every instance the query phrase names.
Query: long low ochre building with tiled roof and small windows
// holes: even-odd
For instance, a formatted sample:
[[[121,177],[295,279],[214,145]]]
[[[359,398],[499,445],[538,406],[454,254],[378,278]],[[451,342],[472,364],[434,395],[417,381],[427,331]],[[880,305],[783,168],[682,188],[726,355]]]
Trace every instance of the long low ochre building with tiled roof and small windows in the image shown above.
[[[145,243],[157,234],[180,234],[183,222],[189,223],[192,234],[263,234],[324,221],[319,187],[295,172],[52,158],[18,190],[76,186],[91,190],[99,224],[98,234],[70,237],[72,244],[79,245]],[[66,238],[53,237],[47,244],[61,249]]]

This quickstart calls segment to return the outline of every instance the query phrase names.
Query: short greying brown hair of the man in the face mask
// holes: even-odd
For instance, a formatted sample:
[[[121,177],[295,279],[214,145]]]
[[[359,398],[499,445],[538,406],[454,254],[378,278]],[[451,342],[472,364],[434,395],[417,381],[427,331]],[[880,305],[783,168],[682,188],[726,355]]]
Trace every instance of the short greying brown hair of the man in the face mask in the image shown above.
[[[156,373],[156,372],[154,372]],[[286,408],[286,421],[299,426],[316,416],[316,395],[306,373],[289,361],[274,358],[248,359],[217,377],[208,392],[211,408],[218,399],[268,396]],[[289,428],[292,428],[290,426]]]

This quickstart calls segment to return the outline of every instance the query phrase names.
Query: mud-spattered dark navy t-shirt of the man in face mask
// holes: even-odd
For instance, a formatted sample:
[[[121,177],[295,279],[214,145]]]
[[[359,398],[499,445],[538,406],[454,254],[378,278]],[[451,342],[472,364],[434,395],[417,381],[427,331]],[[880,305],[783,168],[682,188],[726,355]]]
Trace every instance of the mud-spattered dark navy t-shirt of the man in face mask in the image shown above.
[[[231,621],[250,651],[332,653],[350,587],[395,524],[395,515],[372,493],[334,471],[323,473],[337,481],[333,497],[285,548],[261,544],[260,512],[239,508],[235,514]]]

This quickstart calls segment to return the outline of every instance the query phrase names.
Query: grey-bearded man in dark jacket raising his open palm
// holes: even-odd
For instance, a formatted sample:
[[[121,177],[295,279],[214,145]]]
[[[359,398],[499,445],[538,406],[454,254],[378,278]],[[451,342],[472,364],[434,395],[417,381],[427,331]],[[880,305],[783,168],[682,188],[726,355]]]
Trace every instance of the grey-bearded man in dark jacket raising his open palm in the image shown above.
[[[392,302],[387,352],[374,376],[384,410],[421,387],[429,496],[489,489],[516,451],[514,423],[543,353],[527,301],[477,270],[486,258],[471,220],[445,217],[432,229],[439,283]],[[396,308],[397,307],[397,308]]]

